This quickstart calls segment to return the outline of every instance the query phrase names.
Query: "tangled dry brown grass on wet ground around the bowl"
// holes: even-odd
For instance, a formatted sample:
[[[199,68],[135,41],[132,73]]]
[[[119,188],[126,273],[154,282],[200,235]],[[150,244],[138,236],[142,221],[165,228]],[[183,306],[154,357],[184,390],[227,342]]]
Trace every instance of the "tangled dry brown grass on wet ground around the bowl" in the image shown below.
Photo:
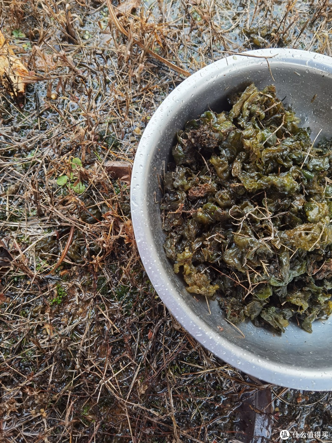
[[[285,427],[332,439],[330,394],[251,380],[170,316],[139,261],[129,174],[107,167],[131,163],[163,98],[224,54],[332,55],[329,2],[2,0],[0,11],[31,74],[23,108],[0,91],[0,441],[250,441],[243,404],[263,391],[272,439]]]

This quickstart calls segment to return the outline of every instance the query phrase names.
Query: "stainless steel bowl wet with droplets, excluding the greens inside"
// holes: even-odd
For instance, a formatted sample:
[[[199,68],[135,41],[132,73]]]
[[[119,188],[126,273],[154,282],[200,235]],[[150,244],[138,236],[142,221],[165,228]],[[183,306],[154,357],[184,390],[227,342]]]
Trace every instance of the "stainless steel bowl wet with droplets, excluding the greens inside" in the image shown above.
[[[320,129],[319,138],[332,136],[332,58],[290,49],[246,54],[223,58],[199,70],[174,89],[151,117],[132,171],[131,215],[137,246],[168,309],[217,357],[276,385],[332,390],[332,318],[315,321],[312,334],[290,325],[278,335],[249,321],[239,325],[243,337],[225,321],[217,301],[210,301],[209,314],[205,298],[197,301],[185,290],[163,250],[158,175],[170,158],[175,133],[188,120],[209,108],[220,112],[229,93],[251,82],[259,88],[274,83],[278,97],[286,97],[284,103],[312,129],[313,139]]]

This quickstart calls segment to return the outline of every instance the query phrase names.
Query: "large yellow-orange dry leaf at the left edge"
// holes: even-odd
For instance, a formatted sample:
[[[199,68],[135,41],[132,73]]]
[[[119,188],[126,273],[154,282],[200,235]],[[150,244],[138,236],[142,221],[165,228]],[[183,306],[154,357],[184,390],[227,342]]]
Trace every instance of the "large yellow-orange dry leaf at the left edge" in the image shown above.
[[[22,102],[25,85],[28,82],[29,71],[8,45],[0,31],[0,78],[10,95],[17,103]]]

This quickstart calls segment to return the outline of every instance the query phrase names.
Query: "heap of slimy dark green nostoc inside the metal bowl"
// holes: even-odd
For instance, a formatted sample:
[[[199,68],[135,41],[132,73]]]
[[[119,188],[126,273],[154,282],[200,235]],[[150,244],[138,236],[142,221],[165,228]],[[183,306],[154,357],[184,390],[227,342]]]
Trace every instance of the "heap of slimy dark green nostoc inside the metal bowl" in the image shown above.
[[[177,134],[164,176],[164,248],[193,294],[218,296],[232,323],[285,331],[332,313],[332,140],[275,87],[251,84],[232,109]]]

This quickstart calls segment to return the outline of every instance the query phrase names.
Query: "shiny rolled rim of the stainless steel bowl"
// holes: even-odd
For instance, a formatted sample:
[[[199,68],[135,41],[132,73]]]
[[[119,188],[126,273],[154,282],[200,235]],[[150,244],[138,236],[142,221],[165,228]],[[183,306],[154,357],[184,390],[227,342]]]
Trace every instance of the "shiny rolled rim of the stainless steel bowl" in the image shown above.
[[[147,127],[145,128],[139,142],[135,160],[132,169],[131,179],[131,218],[136,238],[138,251],[152,285],[156,289],[163,303],[169,309],[172,315],[179,323],[192,335],[202,346],[207,348],[217,357],[222,358],[230,365],[247,373],[248,375],[259,378],[260,380],[274,383],[278,379],[278,385],[293,389],[305,390],[332,390],[332,367],[322,371],[312,368],[301,368],[299,371],[293,365],[275,365],[275,362],[257,356],[250,350],[241,346],[236,346],[229,342],[212,328],[207,329],[205,321],[199,317],[177,294],[175,288],[168,284],[168,277],[162,266],[160,257],[151,245],[154,244],[152,230],[147,226],[145,214],[147,214],[147,187],[148,177],[142,168],[142,163],[151,164],[155,141],[160,136],[158,132],[157,121],[166,118],[167,106],[174,105],[173,99],[185,99],[185,95],[195,81],[204,81],[211,76],[216,76],[221,69],[228,69],[229,64],[235,64],[236,69],[249,66],[252,56],[267,60],[269,64],[275,62],[292,62],[298,65],[305,65],[308,60],[315,58],[320,66],[328,66],[332,73],[332,58],[323,54],[311,51],[302,51],[290,48],[268,48],[254,51],[246,51],[241,54],[232,54],[221,58],[216,62],[196,71],[190,77],[186,78],[162,101],[161,105],[154,112]],[[252,62],[252,59],[251,59]],[[157,135],[158,134],[158,135]],[[223,350],[222,356],[216,354],[216,350]],[[245,354],[244,354],[245,353]],[[236,360],[234,359],[236,356]]]

